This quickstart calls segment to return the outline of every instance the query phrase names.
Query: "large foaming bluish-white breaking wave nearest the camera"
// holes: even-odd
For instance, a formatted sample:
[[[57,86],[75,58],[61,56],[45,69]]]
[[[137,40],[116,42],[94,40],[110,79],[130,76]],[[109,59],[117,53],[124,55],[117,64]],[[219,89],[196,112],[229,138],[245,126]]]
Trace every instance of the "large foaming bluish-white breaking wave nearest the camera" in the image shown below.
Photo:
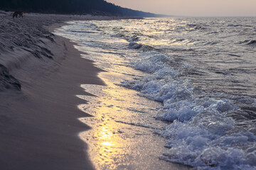
[[[167,139],[170,149],[164,154],[165,160],[198,169],[255,168],[256,137],[228,116],[238,111],[232,101],[194,94],[189,81],[180,79],[178,70],[170,67],[169,63],[176,63],[167,55],[143,52],[132,63],[150,74],[119,85],[163,103],[156,119],[172,123],[154,132]]]

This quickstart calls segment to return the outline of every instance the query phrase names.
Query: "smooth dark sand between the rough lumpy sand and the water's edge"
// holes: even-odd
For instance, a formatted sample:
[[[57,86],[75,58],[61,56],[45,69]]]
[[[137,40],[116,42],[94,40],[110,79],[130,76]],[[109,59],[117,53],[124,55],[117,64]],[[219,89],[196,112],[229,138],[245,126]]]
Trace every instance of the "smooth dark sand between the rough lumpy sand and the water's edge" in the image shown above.
[[[48,27],[53,31],[57,23]],[[78,109],[86,103],[77,94],[90,95],[80,84],[104,83],[101,69],[81,57],[75,42],[55,35],[50,50],[55,63],[40,77],[30,77],[21,91],[2,91],[0,107],[1,169],[94,169],[87,144],[79,132],[90,129],[78,118],[91,116]],[[26,64],[26,63],[25,63]],[[47,70],[50,69],[50,70]],[[11,74],[21,79],[19,69]]]

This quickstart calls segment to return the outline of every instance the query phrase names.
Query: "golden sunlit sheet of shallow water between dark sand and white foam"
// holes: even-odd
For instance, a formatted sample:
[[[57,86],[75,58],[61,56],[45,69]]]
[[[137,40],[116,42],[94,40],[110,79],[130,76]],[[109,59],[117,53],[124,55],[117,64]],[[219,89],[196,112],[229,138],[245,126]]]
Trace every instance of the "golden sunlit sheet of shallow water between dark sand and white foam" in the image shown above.
[[[181,169],[179,165],[159,160],[164,151],[164,139],[152,132],[164,125],[154,119],[154,108],[160,103],[114,85],[122,76],[101,73],[106,86],[82,85],[92,96],[78,95],[88,103],[79,108],[93,115],[80,118],[92,130],[81,132],[79,136],[89,144],[88,153],[95,168]]]

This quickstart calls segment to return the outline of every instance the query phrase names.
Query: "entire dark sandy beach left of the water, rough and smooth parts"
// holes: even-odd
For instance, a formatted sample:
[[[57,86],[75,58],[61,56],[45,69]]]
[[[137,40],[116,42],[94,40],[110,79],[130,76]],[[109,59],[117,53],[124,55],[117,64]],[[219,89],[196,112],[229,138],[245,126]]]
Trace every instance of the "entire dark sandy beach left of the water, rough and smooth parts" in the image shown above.
[[[94,169],[78,137],[88,129],[78,118],[90,115],[78,109],[85,101],[75,95],[87,94],[80,84],[103,84],[102,70],[82,59],[73,42],[49,32],[64,21],[92,18],[112,19],[1,14],[1,170]]]

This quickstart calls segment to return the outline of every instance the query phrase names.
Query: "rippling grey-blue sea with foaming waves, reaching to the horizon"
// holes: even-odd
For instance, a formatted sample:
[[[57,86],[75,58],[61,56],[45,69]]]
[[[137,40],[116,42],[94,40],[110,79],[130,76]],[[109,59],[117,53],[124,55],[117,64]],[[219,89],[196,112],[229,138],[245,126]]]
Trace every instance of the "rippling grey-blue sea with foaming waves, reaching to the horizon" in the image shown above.
[[[165,150],[161,160],[194,169],[256,169],[256,18],[68,23],[57,34],[112,73],[111,86],[134,91],[122,100],[129,111],[132,95],[158,103],[123,110],[136,123],[119,122],[153,126],[151,135],[165,140],[155,146]]]

